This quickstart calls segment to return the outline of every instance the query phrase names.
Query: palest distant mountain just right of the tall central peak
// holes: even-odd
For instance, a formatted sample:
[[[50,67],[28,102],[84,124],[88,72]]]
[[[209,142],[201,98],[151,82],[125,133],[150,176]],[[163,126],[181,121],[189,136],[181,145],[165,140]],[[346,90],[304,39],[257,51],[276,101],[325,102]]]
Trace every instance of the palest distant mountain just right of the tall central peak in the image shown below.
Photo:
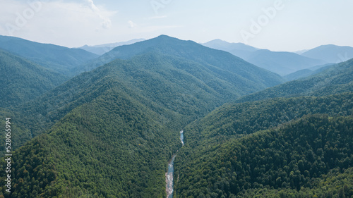
[[[214,39],[210,42],[204,43],[203,46],[228,51],[230,54],[243,58],[244,60],[246,60],[246,58],[248,58],[253,51],[258,50],[257,48],[246,44],[229,43],[222,41],[221,39]]]

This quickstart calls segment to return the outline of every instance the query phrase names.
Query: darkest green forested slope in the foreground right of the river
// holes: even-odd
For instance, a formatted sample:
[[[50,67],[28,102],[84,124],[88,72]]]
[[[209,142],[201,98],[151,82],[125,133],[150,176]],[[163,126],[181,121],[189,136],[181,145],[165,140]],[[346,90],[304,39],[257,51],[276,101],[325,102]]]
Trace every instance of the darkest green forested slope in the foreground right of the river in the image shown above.
[[[289,197],[292,192],[304,196],[313,191],[340,193],[332,190],[332,182],[318,189],[320,185],[313,181],[321,176],[332,179],[325,174],[333,168],[350,168],[352,173],[352,133],[351,117],[306,116],[280,128],[223,144],[208,144],[191,161],[184,156],[176,159],[177,197],[201,193],[210,197],[251,197],[266,190],[272,194],[268,197],[276,197],[277,192],[280,197]],[[344,176],[340,183],[352,180],[349,173],[340,176]],[[344,193],[352,196],[352,182],[345,188]]]

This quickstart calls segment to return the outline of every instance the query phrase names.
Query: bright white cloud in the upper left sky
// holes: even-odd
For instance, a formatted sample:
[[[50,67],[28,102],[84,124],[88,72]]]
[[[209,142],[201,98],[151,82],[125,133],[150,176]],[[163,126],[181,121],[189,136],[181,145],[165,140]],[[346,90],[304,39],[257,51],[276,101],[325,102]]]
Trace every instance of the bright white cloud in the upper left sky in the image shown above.
[[[110,18],[116,11],[96,6],[91,0],[38,0],[40,9],[28,3],[35,1],[0,0],[0,35],[78,47],[93,38],[104,38],[107,28],[113,28]],[[8,31],[8,27],[13,29]]]

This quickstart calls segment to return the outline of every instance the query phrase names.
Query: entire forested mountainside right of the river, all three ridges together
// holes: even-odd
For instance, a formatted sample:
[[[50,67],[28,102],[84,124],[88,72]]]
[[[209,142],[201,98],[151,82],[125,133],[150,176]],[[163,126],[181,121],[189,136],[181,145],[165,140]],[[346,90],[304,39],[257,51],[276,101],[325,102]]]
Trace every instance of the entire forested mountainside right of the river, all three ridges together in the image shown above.
[[[352,60],[187,125],[177,197],[352,196],[351,90]]]

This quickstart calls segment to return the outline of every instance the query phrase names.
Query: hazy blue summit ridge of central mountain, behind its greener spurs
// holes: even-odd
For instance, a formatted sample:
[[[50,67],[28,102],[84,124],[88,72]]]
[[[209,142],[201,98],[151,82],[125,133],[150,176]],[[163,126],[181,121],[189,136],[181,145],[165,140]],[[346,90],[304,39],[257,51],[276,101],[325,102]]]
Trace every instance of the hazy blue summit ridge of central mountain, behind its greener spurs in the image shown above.
[[[253,66],[228,52],[210,49],[193,41],[183,41],[166,35],[144,42],[116,47],[91,63],[77,67],[76,73],[92,70],[116,58],[128,59],[145,53],[164,54],[200,63],[208,68],[208,71],[215,73],[217,77],[221,77],[223,80],[227,79],[227,82],[240,89],[250,90],[255,87],[270,87],[282,82],[279,75]],[[249,85],[252,88],[248,87]]]

